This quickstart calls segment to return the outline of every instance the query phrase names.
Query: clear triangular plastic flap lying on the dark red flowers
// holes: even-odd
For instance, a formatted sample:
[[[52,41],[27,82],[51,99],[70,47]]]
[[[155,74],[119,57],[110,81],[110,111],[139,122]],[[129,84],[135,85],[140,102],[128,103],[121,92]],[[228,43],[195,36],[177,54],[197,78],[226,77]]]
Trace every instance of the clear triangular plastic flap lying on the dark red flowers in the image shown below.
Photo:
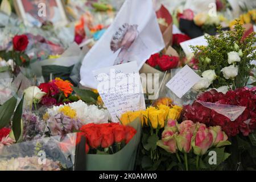
[[[212,109],[219,114],[225,115],[225,117],[229,118],[231,121],[235,121],[246,109],[246,107],[236,105],[218,104],[203,101],[196,102],[199,102],[204,107]]]

